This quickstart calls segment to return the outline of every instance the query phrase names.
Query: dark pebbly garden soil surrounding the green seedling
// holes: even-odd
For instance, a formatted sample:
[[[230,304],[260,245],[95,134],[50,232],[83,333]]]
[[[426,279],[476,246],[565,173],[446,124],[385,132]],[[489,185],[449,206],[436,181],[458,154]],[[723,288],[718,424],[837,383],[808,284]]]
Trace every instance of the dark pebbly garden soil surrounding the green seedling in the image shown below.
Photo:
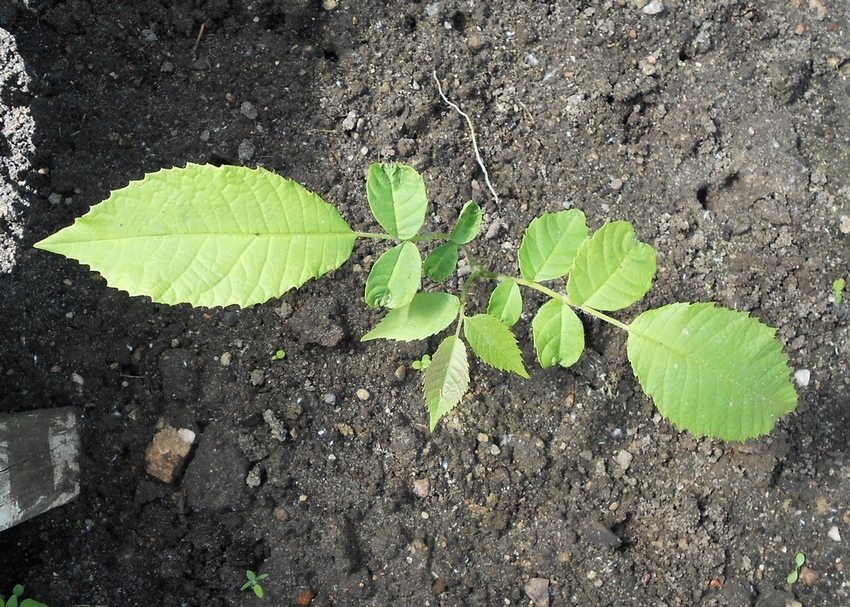
[[[0,592],[260,604],[239,590],[250,569],[281,606],[849,604],[850,308],[832,283],[850,256],[850,7],[644,4],[0,0],[25,70],[0,92],[34,122],[0,277],[0,412],[77,407],[82,440],[79,497],[0,533]],[[359,341],[380,318],[362,302],[380,244],[245,310],[152,304],[32,249],[189,161],[294,178],[359,230],[376,228],[368,165],[410,164],[429,229],[475,200],[476,250],[511,273],[543,212],[629,220],[658,274],[619,318],[752,312],[778,327],[798,409],[746,444],[680,432],[625,335],[591,318],[574,368],[531,370],[529,297],[531,379],[474,364],[430,432],[411,363],[438,342]],[[197,433],[173,484],[146,472],[164,426]]]

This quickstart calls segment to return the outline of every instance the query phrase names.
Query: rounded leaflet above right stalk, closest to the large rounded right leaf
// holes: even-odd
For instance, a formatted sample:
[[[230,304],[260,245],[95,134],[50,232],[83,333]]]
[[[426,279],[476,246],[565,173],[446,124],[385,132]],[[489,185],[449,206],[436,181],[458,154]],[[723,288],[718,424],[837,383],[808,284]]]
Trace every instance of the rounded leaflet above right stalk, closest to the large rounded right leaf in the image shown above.
[[[579,249],[567,283],[576,305],[620,310],[646,295],[655,276],[655,249],[627,221],[607,223]]]

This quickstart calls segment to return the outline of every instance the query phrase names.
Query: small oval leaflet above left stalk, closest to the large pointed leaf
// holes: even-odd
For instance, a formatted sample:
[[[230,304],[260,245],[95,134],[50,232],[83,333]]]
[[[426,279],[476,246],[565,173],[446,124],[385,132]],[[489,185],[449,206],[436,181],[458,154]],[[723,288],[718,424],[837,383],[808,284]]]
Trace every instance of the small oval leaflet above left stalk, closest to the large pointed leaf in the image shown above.
[[[372,215],[394,238],[412,238],[425,222],[425,183],[412,167],[398,162],[373,164],[369,167],[366,196]]]

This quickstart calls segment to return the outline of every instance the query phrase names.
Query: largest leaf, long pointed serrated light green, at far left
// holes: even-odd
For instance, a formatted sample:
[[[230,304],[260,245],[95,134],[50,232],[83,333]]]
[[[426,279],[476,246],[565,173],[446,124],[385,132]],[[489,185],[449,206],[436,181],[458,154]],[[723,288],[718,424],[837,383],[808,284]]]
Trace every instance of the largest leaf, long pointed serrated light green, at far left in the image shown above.
[[[116,190],[35,246],[157,302],[250,306],[338,268],[355,234],[332,206],[265,169],[189,164]]]

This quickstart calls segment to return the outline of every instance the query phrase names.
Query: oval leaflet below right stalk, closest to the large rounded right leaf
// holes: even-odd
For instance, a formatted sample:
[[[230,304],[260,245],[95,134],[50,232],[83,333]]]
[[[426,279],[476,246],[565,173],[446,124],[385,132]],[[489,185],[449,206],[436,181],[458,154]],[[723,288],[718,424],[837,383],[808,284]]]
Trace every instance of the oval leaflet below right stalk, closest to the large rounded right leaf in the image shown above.
[[[584,325],[572,308],[560,299],[540,306],[531,321],[534,348],[540,366],[570,367],[584,351]]]

